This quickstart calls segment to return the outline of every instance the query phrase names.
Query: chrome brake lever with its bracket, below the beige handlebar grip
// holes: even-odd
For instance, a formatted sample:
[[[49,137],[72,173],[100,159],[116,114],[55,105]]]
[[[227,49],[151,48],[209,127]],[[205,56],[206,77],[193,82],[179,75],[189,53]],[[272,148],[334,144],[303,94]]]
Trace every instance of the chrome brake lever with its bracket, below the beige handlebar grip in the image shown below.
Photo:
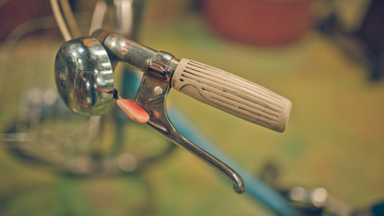
[[[156,88],[159,87],[163,89],[163,92],[161,94],[156,94]],[[153,76],[143,76],[135,101],[147,112],[151,113],[147,125],[163,134],[166,138],[171,139],[180,147],[188,150],[194,156],[201,158],[201,160],[216,168],[223,175],[226,175],[234,182],[234,190],[236,193],[244,193],[246,191],[245,183],[235,170],[217,157],[210,155],[210,153],[195,145],[190,140],[185,139],[174,128],[174,125],[168,118],[165,107],[165,99],[169,89],[170,85],[168,83],[156,79]]]

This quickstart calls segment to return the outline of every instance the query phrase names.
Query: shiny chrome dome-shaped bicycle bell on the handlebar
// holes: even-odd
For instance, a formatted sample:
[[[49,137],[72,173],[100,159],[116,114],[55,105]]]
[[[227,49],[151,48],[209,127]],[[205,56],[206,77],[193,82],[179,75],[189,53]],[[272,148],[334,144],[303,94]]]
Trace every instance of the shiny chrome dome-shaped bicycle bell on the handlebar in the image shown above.
[[[113,100],[112,63],[94,38],[65,42],[55,60],[58,93],[73,112],[86,116],[107,112]]]

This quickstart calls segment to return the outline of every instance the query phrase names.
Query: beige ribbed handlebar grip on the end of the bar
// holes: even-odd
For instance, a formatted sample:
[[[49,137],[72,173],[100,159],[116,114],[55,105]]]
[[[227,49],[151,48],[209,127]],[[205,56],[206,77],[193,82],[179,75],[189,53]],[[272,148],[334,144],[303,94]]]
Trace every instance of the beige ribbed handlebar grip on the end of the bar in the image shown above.
[[[219,68],[180,60],[172,87],[224,112],[265,128],[282,132],[292,103],[279,94]]]

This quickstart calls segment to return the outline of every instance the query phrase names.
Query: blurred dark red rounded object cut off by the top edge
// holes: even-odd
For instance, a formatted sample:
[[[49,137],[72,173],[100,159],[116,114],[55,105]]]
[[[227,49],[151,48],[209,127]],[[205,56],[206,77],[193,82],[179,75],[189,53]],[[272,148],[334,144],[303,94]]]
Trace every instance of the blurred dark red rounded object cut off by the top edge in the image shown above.
[[[299,40],[311,24],[314,0],[205,0],[204,14],[224,37],[260,46]]]

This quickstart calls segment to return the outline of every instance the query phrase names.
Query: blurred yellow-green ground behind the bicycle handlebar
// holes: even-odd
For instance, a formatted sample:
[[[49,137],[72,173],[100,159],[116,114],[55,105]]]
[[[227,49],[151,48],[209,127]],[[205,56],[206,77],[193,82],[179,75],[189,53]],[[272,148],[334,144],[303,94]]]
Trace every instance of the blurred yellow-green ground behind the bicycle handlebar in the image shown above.
[[[94,2],[77,5],[86,10]],[[350,58],[335,38],[314,24],[289,44],[254,46],[213,31],[201,2],[153,0],[147,6],[141,43],[243,76],[293,103],[287,130],[276,133],[171,91],[169,105],[177,106],[205,137],[255,175],[273,163],[280,187],[321,186],[352,207],[384,198],[384,84],[371,82],[369,68]],[[47,28],[1,44],[3,133],[18,119],[25,91],[56,91],[53,64],[63,40],[54,26]],[[124,130],[127,143],[137,144],[134,153],[156,148],[140,147],[141,141],[164,145],[145,126],[129,124]],[[69,136],[59,132],[58,142]],[[102,140],[110,143],[112,136]],[[81,145],[75,142],[74,148]],[[138,173],[74,177],[14,157],[4,139],[0,144],[0,215],[272,215],[246,195],[233,193],[228,181],[180,148]],[[44,154],[55,153],[48,149]]]

